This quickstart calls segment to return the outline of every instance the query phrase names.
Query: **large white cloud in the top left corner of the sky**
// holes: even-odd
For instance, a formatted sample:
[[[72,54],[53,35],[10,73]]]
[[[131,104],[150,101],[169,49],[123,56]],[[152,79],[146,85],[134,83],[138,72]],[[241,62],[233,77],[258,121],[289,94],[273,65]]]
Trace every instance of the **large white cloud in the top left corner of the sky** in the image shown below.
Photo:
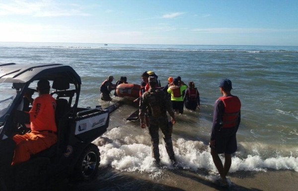
[[[51,0],[27,2],[14,0],[10,3],[0,3],[0,15],[31,15],[31,16],[88,16],[82,12],[78,4],[57,4]]]

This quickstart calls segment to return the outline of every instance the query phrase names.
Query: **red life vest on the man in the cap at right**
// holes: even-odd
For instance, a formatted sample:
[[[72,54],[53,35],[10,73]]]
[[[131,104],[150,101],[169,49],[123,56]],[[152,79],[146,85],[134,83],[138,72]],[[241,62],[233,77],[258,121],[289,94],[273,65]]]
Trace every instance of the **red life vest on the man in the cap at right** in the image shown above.
[[[219,97],[224,102],[223,128],[231,128],[238,125],[238,117],[241,102],[237,96],[228,95]]]

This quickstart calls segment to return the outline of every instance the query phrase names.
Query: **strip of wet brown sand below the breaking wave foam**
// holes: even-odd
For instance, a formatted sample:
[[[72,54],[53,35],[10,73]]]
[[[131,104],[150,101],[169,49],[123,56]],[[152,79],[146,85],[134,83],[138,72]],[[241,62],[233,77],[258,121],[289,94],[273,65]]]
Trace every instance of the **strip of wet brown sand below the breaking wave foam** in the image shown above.
[[[298,173],[290,170],[267,172],[239,171],[229,174],[231,185],[220,187],[215,175],[203,171],[183,169],[164,170],[156,178],[148,173],[119,172],[111,168],[101,169],[95,180],[68,183],[66,191],[297,191]],[[179,180],[179,181],[177,181]]]

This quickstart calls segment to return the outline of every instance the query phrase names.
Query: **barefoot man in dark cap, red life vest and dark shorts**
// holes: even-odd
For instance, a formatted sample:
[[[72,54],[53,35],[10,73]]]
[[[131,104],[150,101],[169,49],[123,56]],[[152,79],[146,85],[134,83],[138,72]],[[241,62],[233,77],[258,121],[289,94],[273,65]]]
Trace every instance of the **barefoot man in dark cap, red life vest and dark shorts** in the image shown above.
[[[231,154],[237,150],[236,132],[240,124],[241,102],[231,95],[232,83],[224,79],[220,83],[223,96],[215,101],[210,148],[213,162],[222,178],[221,186],[228,186],[226,175],[231,166]],[[224,165],[219,157],[224,154]]]

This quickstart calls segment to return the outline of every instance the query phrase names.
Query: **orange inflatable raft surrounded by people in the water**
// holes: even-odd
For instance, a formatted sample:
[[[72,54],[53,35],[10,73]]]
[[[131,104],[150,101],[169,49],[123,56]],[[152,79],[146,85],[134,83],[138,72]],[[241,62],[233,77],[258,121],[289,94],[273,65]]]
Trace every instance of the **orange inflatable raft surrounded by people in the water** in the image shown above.
[[[138,84],[119,84],[116,88],[116,94],[119,97],[130,96],[139,97],[141,86]]]

